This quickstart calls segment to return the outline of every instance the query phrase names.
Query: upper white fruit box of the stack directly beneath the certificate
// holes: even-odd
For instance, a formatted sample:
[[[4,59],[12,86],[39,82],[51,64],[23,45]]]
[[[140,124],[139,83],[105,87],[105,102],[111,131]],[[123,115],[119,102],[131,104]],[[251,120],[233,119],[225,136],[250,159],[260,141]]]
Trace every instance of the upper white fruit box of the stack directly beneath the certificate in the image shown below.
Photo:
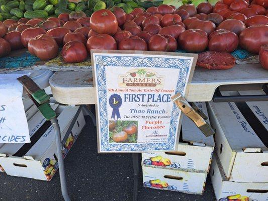
[[[205,102],[195,104],[208,116]],[[183,118],[182,136],[180,141],[183,142],[178,144],[176,152],[142,153],[142,165],[208,173],[215,146],[213,136],[206,137],[186,116]]]

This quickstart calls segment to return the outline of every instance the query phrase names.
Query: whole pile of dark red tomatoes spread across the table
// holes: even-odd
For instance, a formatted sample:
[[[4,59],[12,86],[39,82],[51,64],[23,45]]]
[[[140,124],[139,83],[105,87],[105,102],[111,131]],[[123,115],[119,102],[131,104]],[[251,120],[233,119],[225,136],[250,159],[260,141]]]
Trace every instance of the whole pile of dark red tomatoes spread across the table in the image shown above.
[[[63,60],[74,63],[86,60],[92,49],[210,50],[210,56],[218,54],[215,52],[229,56],[241,47],[259,53],[263,68],[268,69],[266,9],[266,0],[222,0],[214,7],[204,2],[197,8],[188,4],[177,10],[160,5],[146,11],[136,8],[130,14],[115,8],[113,12],[96,11],[91,17],[76,12],[47,20],[6,20],[0,22],[0,57],[28,48],[31,54],[48,60],[58,56],[63,46]]]

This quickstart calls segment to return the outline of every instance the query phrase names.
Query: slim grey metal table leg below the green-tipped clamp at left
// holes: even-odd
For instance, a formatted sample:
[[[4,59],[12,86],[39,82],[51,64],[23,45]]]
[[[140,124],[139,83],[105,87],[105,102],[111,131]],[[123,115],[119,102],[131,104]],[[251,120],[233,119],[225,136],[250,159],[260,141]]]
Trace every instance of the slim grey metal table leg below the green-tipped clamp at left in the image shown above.
[[[57,146],[57,157],[59,163],[59,177],[60,177],[60,186],[61,186],[61,193],[65,201],[70,201],[70,197],[67,191],[67,183],[65,177],[65,169],[64,169],[64,162],[62,156],[62,146],[61,146],[61,134],[59,124],[56,118],[50,120],[54,130],[55,130],[55,138],[56,138],[56,146]]]

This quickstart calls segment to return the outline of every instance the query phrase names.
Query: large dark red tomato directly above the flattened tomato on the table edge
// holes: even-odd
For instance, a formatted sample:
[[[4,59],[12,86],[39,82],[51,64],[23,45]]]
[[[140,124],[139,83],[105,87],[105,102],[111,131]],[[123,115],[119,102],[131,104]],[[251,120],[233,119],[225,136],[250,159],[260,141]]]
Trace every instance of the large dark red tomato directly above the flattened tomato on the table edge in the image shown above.
[[[237,48],[239,40],[235,33],[222,29],[215,32],[209,36],[209,50],[231,53]]]

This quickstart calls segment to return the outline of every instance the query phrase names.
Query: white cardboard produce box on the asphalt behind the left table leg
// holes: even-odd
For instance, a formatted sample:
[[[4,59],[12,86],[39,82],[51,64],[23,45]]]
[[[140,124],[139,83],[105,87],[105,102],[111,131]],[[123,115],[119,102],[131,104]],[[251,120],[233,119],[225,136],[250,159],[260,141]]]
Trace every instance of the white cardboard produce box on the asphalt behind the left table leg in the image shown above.
[[[62,139],[64,138],[77,110],[78,107],[65,108],[57,117]],[[33,118],[31,118],[30,121]],[[80,112],[77,121],[65,142],[65,146],[62,151],[64,156],[67,155],[84,125],[85,120],[82,112]],[[21,147],[17,148],[11,146],[11,144],[9,145],[6,144],[0,149],[0,156],[2,156],[0,157],[0,164],[2,164],[7,174],[40,180],[52,179],[58,169],[58,163],[55,133],[51,125],[48,129],[41,133],[41,137],[32,144],[31,147],[29,147],[29,150],[24,151],[26,152],[25,154],[18,156],[18,152],[20,152],[19,150],[21,150],[21,147],[26,144],[22,144]]]

